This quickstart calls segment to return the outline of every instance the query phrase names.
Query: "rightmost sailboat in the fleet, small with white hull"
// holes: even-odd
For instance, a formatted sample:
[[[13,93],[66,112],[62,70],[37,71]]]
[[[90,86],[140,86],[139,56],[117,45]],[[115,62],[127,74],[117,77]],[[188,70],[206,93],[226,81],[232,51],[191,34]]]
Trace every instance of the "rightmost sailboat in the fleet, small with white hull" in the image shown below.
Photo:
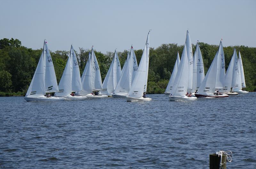
[[[242,90],[242,88],[246,88],[245,85],[245,78],[244,78],[244,67],[243,67],[243,62],[242,62],[242,58],[241,58],[241,54],[239,51],[239,58],[238,58],[238,63],[239,63],[239,69],[240,72],[237,75],[237,81],[240,83],[240,77],[241,77],[241,85],[236,83],[236,86],[234,88],[232,88],[233,92],[239,93],[239,94],[246,94],[249,93],[248,91]]]

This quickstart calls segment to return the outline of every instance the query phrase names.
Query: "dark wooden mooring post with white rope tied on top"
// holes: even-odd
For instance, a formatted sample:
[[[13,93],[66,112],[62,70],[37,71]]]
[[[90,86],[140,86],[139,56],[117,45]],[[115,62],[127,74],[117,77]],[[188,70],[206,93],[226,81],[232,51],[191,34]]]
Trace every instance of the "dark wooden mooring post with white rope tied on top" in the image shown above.
[[[227,169],[227,155],[222,155],[221,161],[220,158],[218,154],[210,154],[210,169]]]

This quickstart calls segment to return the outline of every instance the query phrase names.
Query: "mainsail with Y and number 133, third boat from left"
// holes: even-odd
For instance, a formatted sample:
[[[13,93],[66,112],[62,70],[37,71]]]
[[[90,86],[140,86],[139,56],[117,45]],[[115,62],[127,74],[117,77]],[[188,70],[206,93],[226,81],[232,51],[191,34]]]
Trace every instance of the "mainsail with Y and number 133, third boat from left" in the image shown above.
[[[101,75],[100,75],[100,67],[97,61],[97,58],[95,56],[94,50],[92,48],[92,58],[91,58],[91,64],[92,64],[92,90],[102,90],[102,81],[101,81]]]

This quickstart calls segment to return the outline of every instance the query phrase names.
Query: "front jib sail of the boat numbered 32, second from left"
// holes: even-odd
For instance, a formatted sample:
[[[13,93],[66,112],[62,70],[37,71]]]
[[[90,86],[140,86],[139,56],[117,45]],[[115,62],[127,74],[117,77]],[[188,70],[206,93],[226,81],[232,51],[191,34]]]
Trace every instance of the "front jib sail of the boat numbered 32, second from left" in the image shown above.
[[[61,76],[59,83],[59,91],[55,92],[55,96],[68,96],[71,94],[71,57],[69,54],[68,61],[66,63],[66,67]]]

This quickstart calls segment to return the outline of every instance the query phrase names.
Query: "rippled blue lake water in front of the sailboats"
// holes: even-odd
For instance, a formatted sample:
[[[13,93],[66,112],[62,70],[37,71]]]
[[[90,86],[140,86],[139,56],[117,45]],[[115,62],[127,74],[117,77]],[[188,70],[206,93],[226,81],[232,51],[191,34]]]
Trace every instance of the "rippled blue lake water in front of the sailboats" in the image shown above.
[[[256,93],[170,102],[105,98],[26,102],[0,97],[0,168],[256,168]]]

